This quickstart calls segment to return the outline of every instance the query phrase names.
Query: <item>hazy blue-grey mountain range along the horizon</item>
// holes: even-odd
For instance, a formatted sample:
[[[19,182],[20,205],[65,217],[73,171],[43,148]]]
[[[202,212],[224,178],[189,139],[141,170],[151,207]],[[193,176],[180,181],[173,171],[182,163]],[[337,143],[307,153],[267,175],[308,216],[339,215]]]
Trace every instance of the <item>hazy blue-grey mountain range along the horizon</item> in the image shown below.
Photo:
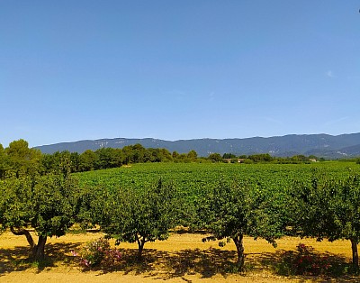
[[[165,148],[172,152],[187,153],[196,151],[206,157],[217,152],[236,155],[269,153],[272,156],[291,157],[297,154],[315,155],[325,159],[342,159],[360,156],[360,132],[329,134],[289,134],[275,137],[253,137],[246,139],[193,139],[164,141],[152,138],[145,139],[101,139],[78,142],[61,142],[35,147],[42,153],[70,151],[82,153],[86,150],[96,151],[103,147],[122,148],[139,143],[145,148]]]

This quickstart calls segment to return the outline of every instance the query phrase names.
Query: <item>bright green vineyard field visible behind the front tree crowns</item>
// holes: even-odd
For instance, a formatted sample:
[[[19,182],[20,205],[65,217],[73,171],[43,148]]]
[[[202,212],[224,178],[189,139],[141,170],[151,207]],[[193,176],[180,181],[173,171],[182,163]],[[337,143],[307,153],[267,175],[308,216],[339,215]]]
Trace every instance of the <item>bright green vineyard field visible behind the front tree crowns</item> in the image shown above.
[[[220,180],[251,179],[267,189],[282,189],[294,179],[310,178],[313,170],[333,176],[360,172],[355,162],[313,162],[311,164],[145,163],[76,173],[85,187],[134,187],[155,184],[159,178],[173,182],[188,196],[202,195]]]

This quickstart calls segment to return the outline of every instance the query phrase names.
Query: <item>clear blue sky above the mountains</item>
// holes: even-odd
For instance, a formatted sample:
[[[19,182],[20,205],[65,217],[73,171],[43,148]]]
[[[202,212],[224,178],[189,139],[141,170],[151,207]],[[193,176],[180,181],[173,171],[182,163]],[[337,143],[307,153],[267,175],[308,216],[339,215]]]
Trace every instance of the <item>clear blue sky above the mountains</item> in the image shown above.
[[[0,0],[0,143],[360,132],[357,0]]]

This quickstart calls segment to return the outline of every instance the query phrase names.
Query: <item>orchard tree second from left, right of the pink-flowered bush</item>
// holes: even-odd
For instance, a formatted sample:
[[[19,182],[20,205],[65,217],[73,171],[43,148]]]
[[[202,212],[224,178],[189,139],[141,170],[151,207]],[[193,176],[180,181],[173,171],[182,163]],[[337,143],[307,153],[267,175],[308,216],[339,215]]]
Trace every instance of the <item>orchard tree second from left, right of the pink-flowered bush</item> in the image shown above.
[[[160,179],[157,186],[121,188],[103,196],[93,208],[96,221],[108,237],[120,242],[137,242],[138,259],[146,242],[166,240],[176,224],[178,200],[175,187]]]

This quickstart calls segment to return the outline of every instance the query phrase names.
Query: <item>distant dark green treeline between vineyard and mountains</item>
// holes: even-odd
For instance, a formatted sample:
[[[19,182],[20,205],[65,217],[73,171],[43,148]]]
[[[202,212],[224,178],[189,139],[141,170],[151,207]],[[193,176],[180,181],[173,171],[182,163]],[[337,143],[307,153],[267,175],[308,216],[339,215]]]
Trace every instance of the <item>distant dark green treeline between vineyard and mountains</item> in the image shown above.
[[[322,159],[320,159],[322,160]],[[198,157],[196,151],[188,153],[170,152],[166,149],[144,148],[141,144],[125,146],[122,149],[101,148],[96,151],[77,152],[57,151],[42,154],[30,149],[28,142],[11,142],[7,148],[0,144],[0,178],[5,175],[16,177],[34,172],[47,174],[61,168],[62,163],[70,164],[71,172],[83,172],[97,169],[110,169],[122,165],[146,162],[227,162],[227,163],[310,163],[319,161],[316,156],[295,155],[289,158],[273,157],[268,153],[240,155],[211,153],[208,157]],[[360,159],[356,160],[360,163]],[[68,168],[68,166],[67,166]]]

